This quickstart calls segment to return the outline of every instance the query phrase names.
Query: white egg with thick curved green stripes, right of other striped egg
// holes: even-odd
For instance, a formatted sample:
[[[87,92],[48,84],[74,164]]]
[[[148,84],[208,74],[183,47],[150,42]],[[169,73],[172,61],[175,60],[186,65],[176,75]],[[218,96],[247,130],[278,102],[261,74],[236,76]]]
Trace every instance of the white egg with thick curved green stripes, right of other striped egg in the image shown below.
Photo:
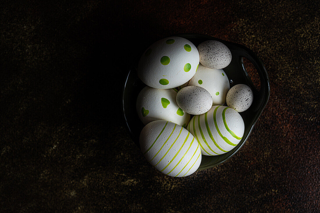
[[[244,122],[241,115],[227,106],[212,106],[189,122],[188,131],[199,142],[204,155],[224,154],[233,149],[242,139]]]

